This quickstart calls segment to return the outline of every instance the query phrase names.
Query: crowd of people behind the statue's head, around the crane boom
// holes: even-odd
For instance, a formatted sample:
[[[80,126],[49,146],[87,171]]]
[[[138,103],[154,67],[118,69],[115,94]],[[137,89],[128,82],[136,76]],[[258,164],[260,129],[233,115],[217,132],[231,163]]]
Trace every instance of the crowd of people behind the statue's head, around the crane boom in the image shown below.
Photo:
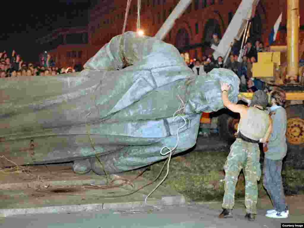
[[[248,39],[249,40],[249,39]],[[213,34],[211,45],[217,46],[220,42],[217,34]],[[263,90],[263,82],[252,77],[252,65],[257,62],[257,53],[269,50],[269,47],[264,48],[263,42],[257,40],[254,45],[251,41],[247,41],[244,46],[241,58],[240,55],[240,42],[237,39],[231,43],[231,52],[229,58],[224,64],[224,59],[219,56],[217,59],[213,58],[212,54],[204,55],[202,60],[195,59],[189,63],[189,67],[195,74],[201,75],[208,73],[213,68],[226,68],[230,69],[237,74],[240,78],[240,92],[255,92],[258,89]]]

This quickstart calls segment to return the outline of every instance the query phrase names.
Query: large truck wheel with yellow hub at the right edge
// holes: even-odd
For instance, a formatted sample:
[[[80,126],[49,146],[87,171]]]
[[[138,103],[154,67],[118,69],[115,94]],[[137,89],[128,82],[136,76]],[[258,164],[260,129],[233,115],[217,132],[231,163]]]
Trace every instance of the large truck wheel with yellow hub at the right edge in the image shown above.
[[[286,163],[304,168],[304,105],[291,105],[286,108],[286,114]]]

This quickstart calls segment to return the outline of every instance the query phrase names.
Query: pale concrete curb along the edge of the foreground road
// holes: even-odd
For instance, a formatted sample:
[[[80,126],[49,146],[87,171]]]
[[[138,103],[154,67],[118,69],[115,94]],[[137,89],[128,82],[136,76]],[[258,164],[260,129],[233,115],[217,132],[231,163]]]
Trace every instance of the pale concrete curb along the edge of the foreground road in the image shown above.
[[[144,206],[172,206],[185,204],[183,195],[166,195],[160,200],[149,200],[147,204],[144,201],[120,202],[120,203],[97,203],[82,205],[58,205],[37,208],[13,208],[1,209],[0,217],[28,215],[28,214],[46,214],[46,213],[72,213],[72,212],[95,212],[108,209],[132,209]]]

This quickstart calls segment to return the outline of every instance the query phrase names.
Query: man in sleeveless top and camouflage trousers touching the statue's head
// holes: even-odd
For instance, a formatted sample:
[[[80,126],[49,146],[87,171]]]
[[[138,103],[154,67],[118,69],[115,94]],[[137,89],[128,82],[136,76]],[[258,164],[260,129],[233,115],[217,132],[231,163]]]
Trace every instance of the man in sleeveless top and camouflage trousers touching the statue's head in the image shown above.
[[[225,194],[223,212],[219,218],[232,218],[234,194],[240,171],[245,175],[245,217],[255,220],[257,214],[257,181],[261,178],[260,150],[258,143],[264,143],[271,134],[272,122],[266,111],[268,95],[258,90],[254,93],[250,107],[237,105],[229,101],[230,86],[222,83],[222,98],[225,107],[240,113],[237,139],[230,147],[230,153],[224,165]]]

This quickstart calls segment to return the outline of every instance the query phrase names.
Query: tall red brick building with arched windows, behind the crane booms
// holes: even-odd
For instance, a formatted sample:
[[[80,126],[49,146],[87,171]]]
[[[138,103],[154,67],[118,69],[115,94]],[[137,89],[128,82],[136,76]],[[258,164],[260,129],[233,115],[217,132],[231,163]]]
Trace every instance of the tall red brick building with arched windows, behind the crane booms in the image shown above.
[[[122,32],[126,0],[99,0],[89,9],[88,37],[93,56],[105,43]],[[193,0],[186,12],[175,22],[164,40],[173,44],[181,53],[189,52],[191,58],[201,58],[212,52],[208,47],[213,33],[222,36],[241,0]],[[147,36],[154,36],[178,0],[141,0],[141,29]],[[268,34],[278,16],[283,12],[281,38],[277,44],[286,44],[286,0],[260,0],[250,29],[252,40],[268,44]],[[304,13],[304,1],[300,1],[300,15]],[[137,1],[132,1],[126,31],[136,31]],[[304,25],[304,17],[300,18]],[[300,40],[304,36],[301,26]]]

